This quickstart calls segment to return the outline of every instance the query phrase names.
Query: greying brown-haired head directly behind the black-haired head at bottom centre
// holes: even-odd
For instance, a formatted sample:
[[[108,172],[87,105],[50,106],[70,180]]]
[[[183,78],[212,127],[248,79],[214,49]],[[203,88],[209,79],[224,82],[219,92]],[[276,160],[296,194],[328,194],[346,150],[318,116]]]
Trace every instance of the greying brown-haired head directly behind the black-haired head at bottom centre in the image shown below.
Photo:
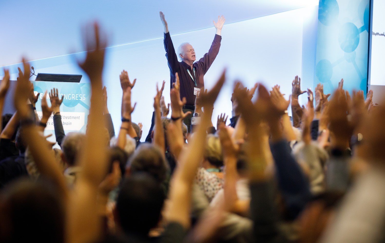
[[[145,172],[151,175],[159,184],[167,178],[169,166],[162,155],[161,150],[149,143],[142,143],[127,164],[129,174]]]

